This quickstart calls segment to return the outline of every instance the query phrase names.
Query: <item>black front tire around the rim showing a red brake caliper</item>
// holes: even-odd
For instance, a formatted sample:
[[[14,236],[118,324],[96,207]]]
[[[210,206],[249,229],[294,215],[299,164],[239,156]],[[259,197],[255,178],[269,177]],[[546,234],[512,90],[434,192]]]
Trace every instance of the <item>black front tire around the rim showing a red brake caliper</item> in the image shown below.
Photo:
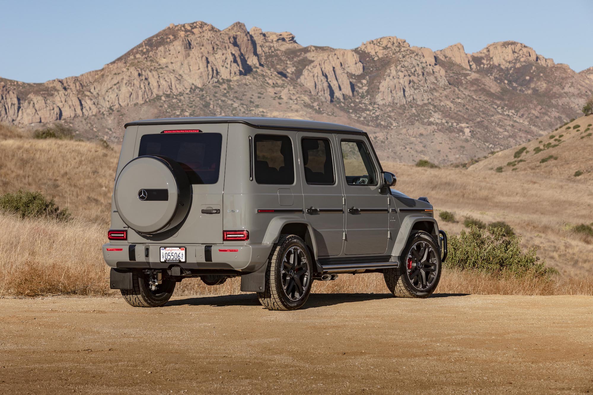
[[[429,286],[428,289],[423,291],[416,289],[407,276],[406,259],[410,253],[410,249],[414,244],[416,244],[417,241],[426,241],[431,245],[432,249],[436,251],[436,265],[438,266],[435,281],[431,286]],[[403,251],[401,251],[400,267],[394,269],[385,269],[383,272],[383,277],[385,278],[385,284],[387,284],[387,288],[389,288],[389,290],[397,298],[428,298],[432,292],[435,291],[436,286],[439,284],[441,279],[442,263],[440,251],[441,249],[438,247],[438,244],[431,234],[423,231],[417,231],[413,234],[410,234],[406,247],[404,247]]]

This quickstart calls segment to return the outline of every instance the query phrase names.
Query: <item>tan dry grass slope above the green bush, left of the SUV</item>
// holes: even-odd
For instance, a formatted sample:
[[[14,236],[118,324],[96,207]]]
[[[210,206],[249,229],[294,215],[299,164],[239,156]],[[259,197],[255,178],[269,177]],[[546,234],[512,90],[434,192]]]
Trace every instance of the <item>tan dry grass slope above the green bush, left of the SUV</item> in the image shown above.
[[[90,142],[0,140],[0,193],[37,190],[76,218],[106,223],[118,155]]]

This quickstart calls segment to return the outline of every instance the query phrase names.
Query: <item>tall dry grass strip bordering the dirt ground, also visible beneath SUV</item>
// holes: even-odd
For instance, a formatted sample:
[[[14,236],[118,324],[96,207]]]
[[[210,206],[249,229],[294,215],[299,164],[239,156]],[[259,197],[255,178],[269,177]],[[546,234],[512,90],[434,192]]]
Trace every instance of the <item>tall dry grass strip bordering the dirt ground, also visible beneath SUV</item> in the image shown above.
[[[0,295],[113,295],[101,244],[106,225],[73,221],[67,227],[48,219],[0,215]],[[385,293],[381,274],[340,275],[337,281],[315,282],[313,292]],[[593,278],[496,279],[493,276],[444,270],[438,293],[512,295],[593,295]],[[199,279],[178,284],[177,295],[239,294],[240,279],[206,286]]]

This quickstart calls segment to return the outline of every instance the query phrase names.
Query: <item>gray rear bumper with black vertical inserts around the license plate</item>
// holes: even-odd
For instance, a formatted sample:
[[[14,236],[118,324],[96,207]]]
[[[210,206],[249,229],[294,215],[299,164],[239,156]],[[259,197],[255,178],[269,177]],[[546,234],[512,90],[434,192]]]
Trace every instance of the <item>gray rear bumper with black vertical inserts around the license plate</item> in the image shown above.
[[[165,247],[163,245],[162,247]],[[116,269],[227,269],[254,272],[259,269],[272,250],[273,244],[186,244],[186,262],[160,262],[160,245],[103,244],[103,258],[107,266]],[[236,250],[236,251],[235,251]]]

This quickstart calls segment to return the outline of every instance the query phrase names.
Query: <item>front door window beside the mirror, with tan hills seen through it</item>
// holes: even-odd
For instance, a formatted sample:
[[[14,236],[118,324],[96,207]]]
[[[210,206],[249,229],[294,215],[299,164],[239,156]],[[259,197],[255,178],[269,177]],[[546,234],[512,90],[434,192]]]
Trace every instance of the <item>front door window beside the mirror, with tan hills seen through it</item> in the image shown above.
[[[366,144],[342,141],[342,159],[348,185],[377,185],[375,166]]]

